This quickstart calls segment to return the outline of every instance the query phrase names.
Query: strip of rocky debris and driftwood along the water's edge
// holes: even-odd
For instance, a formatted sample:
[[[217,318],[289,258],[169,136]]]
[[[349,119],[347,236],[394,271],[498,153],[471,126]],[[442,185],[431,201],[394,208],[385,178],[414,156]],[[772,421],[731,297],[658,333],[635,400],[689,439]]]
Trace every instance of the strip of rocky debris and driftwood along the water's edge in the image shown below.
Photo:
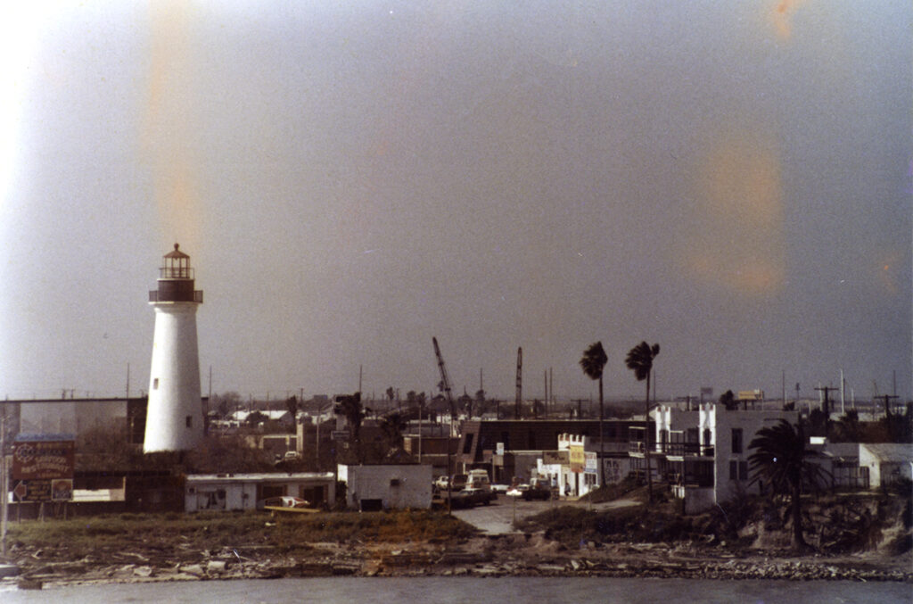
[[[708,579],[843,579],[913,583],[911,555],[879,553],[796,556],[790,550],[737,549],[703,542],[596,544],[570,548],[541,534],[480,536],[460,542],[309,544],[213,550],[165,547],[95,552],[68,561],[67,546],[20,546],[16,566],[24,585],[192,581],[286,577],[632,577]],[[9,579],[10,581],[14,579]]]

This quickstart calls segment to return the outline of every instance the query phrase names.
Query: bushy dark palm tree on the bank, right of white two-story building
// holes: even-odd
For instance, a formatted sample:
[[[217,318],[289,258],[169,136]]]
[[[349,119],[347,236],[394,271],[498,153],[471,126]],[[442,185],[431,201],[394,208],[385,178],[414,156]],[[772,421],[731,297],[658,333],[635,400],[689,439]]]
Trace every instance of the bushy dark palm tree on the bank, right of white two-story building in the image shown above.
[[[789,495],[789,515],[792,517],[792,546],[808,547],[803,537],[802,490],[803,482],[819,484],[823,470],[818,464],[809,463],[815,451],[805,447],[803,426],[781,419],[774,426],[758,430],[749,444],[754,450],[749,456],[751,483],[761,482],[773,493]]]

